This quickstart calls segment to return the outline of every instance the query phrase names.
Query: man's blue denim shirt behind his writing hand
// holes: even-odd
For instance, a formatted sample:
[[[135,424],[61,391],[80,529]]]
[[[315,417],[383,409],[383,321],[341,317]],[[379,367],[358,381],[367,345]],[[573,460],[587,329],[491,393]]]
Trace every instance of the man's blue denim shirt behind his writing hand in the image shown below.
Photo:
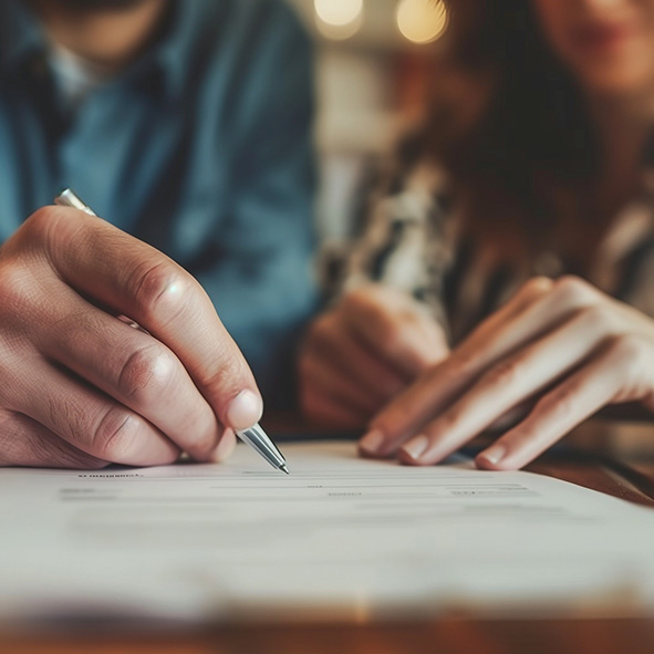
[[[282,0],[170,0],[162,38],[73,114],[25,6],[0,0],[0,239],[72,187],[200,281],[267,403],[280,401],[315,303],[298,19]]]

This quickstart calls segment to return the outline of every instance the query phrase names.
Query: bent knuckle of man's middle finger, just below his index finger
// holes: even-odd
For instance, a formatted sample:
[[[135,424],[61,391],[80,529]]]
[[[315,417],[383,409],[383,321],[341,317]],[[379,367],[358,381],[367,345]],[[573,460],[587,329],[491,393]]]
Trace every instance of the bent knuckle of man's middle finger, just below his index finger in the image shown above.
[[[138,405],[148,404],[169,387],[175,374],[173,355],[157,344],[133,352],[118,376],[122,397]]]

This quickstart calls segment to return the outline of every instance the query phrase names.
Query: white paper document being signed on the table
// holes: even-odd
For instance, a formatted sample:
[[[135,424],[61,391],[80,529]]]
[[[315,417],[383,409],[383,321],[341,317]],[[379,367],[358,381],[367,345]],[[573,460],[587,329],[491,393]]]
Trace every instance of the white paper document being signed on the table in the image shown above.
[[[245,446],[227,464],[0,470],[0,621],[624,614],[654,605],[654,511],[528,473]]]

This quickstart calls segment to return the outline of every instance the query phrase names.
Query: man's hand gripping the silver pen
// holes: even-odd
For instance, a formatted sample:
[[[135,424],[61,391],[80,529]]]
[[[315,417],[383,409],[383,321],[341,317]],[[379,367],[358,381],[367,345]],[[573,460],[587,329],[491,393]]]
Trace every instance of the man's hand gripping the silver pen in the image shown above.
[[[2,246],[0,465],[219,459],[261,413],[211,301],[162,252],[62,207]]]

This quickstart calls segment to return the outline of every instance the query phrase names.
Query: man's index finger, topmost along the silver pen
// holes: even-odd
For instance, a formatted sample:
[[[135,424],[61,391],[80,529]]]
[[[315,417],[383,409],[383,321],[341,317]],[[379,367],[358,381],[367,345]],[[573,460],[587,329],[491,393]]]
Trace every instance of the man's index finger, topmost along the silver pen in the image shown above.
[[[240,430],[259,421],[262,401],[252,373],[211,300],[186,270],[76,209],[46,207],[28,222],[63,281],[135,320],[175,352],[225,426]]]

